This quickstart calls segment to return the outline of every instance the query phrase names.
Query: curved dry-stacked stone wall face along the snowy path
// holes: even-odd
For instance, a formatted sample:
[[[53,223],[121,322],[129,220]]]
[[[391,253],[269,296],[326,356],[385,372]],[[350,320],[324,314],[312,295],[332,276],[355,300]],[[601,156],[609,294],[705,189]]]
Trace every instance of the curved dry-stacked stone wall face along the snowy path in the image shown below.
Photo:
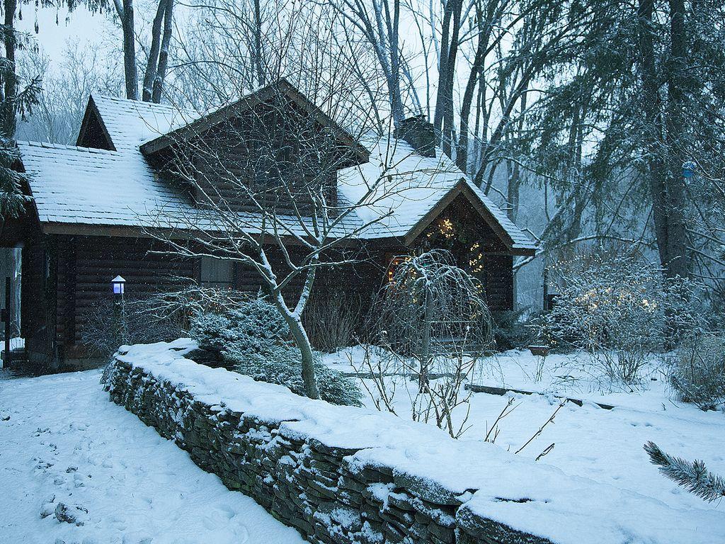
[[[117,356],[105,374],[113,402],[310,542],[550,543],[473,513],[464,503],[475,490],[457,495],[392,466],[360,462],[355,448],[332,447],[291,432],[284,421],[196,397],[186,385],[123,359]]]

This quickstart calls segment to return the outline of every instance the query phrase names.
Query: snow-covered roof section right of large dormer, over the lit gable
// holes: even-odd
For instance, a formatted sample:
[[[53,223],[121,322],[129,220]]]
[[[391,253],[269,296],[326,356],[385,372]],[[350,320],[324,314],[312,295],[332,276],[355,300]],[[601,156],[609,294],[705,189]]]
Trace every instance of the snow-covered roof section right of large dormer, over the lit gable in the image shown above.
[[[338,184],[349,201],[360,202],[365,198],[367,205],[358,210],[363,221],[371,223],[365,237],[407,236],[451,191],[465,186],[465,193],[476,199],[508,235],[513,249],[535,249],[529,236],[441,149],[436,149],[436,157],[423,157],[407,142],[389,136],[364,144],[370,149],[369,162],[341,170]]]

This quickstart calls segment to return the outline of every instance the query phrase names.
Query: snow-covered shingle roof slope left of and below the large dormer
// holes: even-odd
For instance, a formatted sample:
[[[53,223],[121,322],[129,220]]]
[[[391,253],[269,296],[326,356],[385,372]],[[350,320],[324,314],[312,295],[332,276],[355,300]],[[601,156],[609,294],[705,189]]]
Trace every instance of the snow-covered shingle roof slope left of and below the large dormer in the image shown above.
[[[33,141],[17,145],[25,171],[33,178],[31,192],[41,223],[205,230],[220,230],[228,224],[195,207],[186,192],[155,176],[138,150],[107,151]],[[278,221],[278,228],[287,228],[290,234],[305,234],[297,218],[279,216]],[[254,231],[261,219],[258,214],[245,213],[237,224]],[[359,218],[349,214],[330,235],[344,236],[360,226]]]

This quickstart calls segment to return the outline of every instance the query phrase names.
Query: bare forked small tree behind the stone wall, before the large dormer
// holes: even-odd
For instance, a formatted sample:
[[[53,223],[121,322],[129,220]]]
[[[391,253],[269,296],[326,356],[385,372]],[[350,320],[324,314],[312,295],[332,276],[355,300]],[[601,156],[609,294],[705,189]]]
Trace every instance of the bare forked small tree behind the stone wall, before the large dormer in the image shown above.
[[[313,49],[320,46],[318,39],[319,35],[310,44]],[[298,58],[317,57],[305,53]],[[397,177],[392,179],[384,166],[374,179],[360,174],[364,186],[354,202],[337,199],[338,170],[357,168],[368,157],[357,143],[364,125],[357,125],[351,139],[331,121],[334,116],[356,126],[357,106],[349,99],[355,89],[345,78],[347,63],[344,57],[335,63],[336,69],[324,74],[315,73],[313,65],[301,68],[307,77],[301,83],[305,95],[317,97],[325,112],[280,81],[241,103],[252,102],[253,107],[237,105],[236,113],[220,123],[198,128],[191,123],[165,136],[170,145],[160,166],[165,175],[186,184],[196,207],[159,215],[149,228],[149,234],[167,244],[168,252],[231,260],[254,273],[302,352],[305,391],[312,398],[318,397],[318,390],[302,312],[315,277],[320,268],[360,257],[357,236],[392,210],[369,221],[357,210],[399,189]],[[340,81],[345,86],[336,87]],[[402,184],[409,183],[407,176],[396,176]]]

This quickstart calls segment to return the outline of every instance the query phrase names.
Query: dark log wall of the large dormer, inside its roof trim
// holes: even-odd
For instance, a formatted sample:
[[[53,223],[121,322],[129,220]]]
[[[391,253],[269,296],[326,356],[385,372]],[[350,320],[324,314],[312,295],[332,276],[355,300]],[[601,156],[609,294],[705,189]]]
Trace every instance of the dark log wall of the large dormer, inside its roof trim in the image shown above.
[[[352,147],[337,144],[291,102],[259,104],[189,144],[173,144],[147,158],[171,183],[186,184],[201,207],[257,211],[243,184],[282,214],[309,212],[313,180],[322,184],[326,204],[335,207],[337,170],[359,162]]]

